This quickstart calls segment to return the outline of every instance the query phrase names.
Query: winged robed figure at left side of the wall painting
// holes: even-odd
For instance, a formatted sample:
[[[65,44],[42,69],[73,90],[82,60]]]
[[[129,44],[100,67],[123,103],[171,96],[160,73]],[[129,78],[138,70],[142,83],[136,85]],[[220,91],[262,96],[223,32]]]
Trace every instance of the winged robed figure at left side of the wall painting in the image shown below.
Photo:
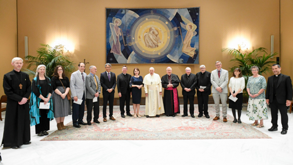
[[[122,55],[121,55],[121,44],[119,41],[119,36],[122,36],[122,33],[121,33],[121,28],[119,28],[118,26],[120,26],[121,23],[122,23],[121,20],[116,19],[115,17],[113,18],[113,23],[110,23],[110,28],[112,32],[110,42],[113,41],[113,44],[111,45],[111,53],[118,54],[120,56]]]

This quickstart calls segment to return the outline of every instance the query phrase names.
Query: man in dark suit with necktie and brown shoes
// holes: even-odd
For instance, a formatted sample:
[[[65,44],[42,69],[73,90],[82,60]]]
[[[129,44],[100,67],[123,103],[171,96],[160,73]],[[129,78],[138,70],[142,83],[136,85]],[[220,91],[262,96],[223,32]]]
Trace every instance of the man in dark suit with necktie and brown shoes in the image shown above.
[[[116,87],[116,76],[115,73],[111,72],[111,64],[105,64],[106,71],[101,73],[101,86],[103,87],[103,122],[107,122],[106,119],[106,108],[107,102],[109,101],[109,118],[110,120],[115,120],[113,117],[113,103],[114,103],[114,93]]]

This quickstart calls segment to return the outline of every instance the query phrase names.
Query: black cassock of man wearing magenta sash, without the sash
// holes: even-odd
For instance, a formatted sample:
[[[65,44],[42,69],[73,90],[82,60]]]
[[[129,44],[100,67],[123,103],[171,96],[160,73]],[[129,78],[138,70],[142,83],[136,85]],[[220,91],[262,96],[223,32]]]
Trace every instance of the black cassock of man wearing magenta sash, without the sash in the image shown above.
[[[175,106],[174,106],[174,93],[173,90],[167,90],[167,85],[169,84],[169,81],[173,84],[173,88],[176,88],[180,84],[180,79],[177,75],[171,74],[169,77],[168,75],[164,75],[162,77],[162,86],[164,89],[164,109],[165,109],[165,115],[174,115],[176,113],[180,113],[180,107],[179,107],[179,98],[178,98],[178,90],[177,90],[177,102],[178,102],[178,112],[174,112]],[[175,98],[176,99],[176,98]]]

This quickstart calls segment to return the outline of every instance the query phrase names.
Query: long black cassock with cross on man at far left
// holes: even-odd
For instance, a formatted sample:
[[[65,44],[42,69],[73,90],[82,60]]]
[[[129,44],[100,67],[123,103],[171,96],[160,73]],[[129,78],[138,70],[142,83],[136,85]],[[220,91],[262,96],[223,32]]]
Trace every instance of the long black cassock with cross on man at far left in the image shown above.
[[[20,146],[30,141],[29,101],[22,105],[18,103],[31,94],[28,74],[15,70],[6,73],[3,88],[7,105],[2,144],[4,147]]]

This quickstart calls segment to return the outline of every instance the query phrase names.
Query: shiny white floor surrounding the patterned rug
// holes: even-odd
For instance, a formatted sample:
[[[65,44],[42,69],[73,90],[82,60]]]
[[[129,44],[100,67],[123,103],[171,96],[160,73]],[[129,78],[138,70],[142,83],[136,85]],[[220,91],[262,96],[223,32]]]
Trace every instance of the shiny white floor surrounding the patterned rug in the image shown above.
[[[230,109],[228,113],[232,115]],[[280,134],[280,115],[279,130],[269,132],[269,109],[269,120],[258,129],[272,139],[41,142],[43,137],[38,137],[32,126],[32,144],[20,149],[1,147],[0,165],[293,165],[293,113],[288,116],[287,135]],[[241,120],[252,123],[246,108]],[[68,116],[64,123],[70,121]],[[0,122],[0,139],[3,126],[4,120]],[[57,130],[56,122],[52,121],[50,127],[49,133]]]

